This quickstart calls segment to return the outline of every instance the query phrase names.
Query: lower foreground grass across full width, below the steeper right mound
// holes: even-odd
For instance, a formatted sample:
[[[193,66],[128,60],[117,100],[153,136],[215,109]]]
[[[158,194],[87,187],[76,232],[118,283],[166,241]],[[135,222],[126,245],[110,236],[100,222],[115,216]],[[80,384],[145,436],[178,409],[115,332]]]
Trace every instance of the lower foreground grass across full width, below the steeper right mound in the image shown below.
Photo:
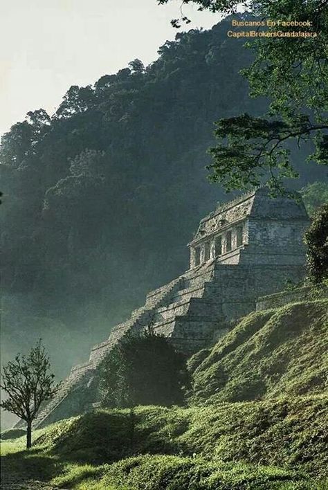
[[[2,459],[64,488],[313,489],[328,466],[327,418],[322,395],[96,410],[37,430],[30,452],[24,439],[5,443],[15,453]]]

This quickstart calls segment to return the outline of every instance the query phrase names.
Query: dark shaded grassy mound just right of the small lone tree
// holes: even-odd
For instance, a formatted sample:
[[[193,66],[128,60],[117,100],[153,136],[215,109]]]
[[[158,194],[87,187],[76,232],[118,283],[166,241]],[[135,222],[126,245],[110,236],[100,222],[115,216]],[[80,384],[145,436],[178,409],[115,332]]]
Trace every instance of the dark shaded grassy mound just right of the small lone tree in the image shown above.
[[[136,454],[188,452],[176,437],[188,430],[185,420],[168,424],[165,417],[150,419],[129,410],[97,410],[76,419],[64,433],[56,434],[54,429],[53,434],[40,436],[35,444],[50,444],[49,453],[60,459],[89,464],[116,462]]]

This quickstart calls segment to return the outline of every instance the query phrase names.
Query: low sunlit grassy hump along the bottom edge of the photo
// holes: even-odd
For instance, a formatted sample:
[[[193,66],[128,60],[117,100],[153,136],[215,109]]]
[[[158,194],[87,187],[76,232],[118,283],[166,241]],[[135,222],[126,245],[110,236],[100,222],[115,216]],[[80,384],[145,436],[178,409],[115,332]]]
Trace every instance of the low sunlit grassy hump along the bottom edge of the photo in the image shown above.
[[[269,490],[282,488],[278,484],[285,482],[302,482],[299,488],[311,488],[295,472],[241,463],[214,464],[199,457],[143,455],[113,463],[103,471],[92,490]],[[295,485],[290,488],[298,488]]]

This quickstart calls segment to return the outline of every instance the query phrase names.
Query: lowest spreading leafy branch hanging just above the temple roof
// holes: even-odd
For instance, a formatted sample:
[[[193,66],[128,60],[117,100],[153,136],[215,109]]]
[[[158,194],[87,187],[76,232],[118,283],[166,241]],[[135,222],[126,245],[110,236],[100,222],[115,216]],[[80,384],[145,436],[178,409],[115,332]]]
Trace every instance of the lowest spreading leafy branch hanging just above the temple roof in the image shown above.
[[[311,138],[313,131],[318,134],[328,129],[328,125],[313,125],[307,116],[286,122],[248,114],[221,119],[216,126],[215,136],[220,144],[209,150],[213,158],[207,167],[212,172],[210,180],[233,190],[257,186],[266,178],[273,192],[280,193],[285,192],[282,179],[298,176],[284,142],[293,138],[300,145],[301,140]]]

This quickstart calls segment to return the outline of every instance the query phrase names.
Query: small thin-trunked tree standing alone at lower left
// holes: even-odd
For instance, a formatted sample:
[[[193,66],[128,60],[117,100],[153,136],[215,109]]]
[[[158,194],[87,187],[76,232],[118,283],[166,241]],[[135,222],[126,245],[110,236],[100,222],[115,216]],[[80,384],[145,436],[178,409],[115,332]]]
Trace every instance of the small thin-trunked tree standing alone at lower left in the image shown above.
[[[0,406],[26,421],[27,448],[32,445],[32,423],[41,404],[58,390],[58,385],[54,385],[55,375],[49,370],[49,358],[41,339],[27,356],[17,354],[15,361],[3,367],[1,388],[8,399],[1,401]]]

